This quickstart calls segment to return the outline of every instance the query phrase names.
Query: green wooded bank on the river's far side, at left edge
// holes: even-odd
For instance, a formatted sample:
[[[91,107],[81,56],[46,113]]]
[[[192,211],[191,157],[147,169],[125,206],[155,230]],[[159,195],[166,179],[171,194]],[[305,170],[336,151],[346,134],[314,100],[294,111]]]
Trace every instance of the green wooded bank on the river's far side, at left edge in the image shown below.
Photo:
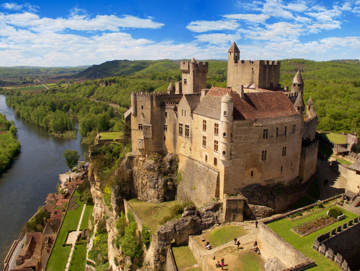
[[[20,142],[15,136],[18,129],[14,121],[8,121],[6,116],[0,113],[0,174],[12,163],[14,157],[20,152]]]

